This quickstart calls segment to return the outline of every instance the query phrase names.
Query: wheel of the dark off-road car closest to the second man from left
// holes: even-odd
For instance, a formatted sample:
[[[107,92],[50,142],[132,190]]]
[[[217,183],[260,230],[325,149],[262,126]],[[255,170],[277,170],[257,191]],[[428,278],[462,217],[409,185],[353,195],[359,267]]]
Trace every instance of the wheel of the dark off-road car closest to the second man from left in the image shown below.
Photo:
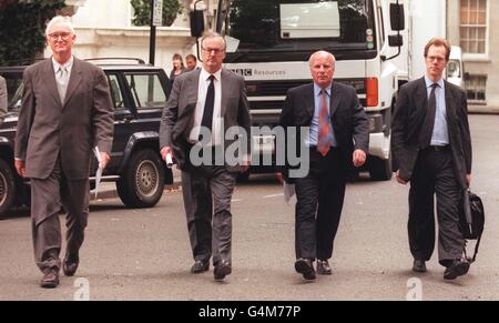
[[[134,152],[116,182],[118,195],[128,208],[152,208],[164,188],[160,155],[150,149]]]

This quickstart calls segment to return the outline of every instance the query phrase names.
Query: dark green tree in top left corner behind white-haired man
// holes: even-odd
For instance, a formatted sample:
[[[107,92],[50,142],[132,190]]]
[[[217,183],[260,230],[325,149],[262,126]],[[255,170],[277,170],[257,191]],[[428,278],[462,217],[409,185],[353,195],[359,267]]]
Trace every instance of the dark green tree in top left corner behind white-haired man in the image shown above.
[[[0,0],[0,65],[31,63],[45,48],[45,26],[64,0]]]

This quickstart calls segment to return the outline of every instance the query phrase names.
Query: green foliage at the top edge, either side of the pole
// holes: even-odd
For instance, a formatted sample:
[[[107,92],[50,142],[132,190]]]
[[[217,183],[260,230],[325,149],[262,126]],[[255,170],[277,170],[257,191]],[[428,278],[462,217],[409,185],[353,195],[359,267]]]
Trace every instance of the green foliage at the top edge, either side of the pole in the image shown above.
[[[149,26],[151,23],[151,0],[131,0],[135,17],[134,26]],[[182,13],[182,3],[179,0],[163,0],[163,26],[171,26],[179,13]]]

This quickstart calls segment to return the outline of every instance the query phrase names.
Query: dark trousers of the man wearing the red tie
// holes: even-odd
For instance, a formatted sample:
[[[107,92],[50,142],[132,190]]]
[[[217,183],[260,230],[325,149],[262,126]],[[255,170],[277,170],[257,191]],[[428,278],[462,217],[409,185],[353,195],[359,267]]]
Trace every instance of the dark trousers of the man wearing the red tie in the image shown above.
[[[338,149],[323,157],[310,148],[310,170],[296,179],[296,258],[327,260],[338,230],[345,198]]]

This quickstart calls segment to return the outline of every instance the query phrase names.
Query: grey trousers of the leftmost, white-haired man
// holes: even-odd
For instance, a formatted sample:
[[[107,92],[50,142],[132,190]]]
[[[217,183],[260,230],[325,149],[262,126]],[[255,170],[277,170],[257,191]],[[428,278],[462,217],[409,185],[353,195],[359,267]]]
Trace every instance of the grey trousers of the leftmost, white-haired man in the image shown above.
[[[68,180],[58,161],[47,179],[31,179],[31,228],[34,259],[45,273],[59,270],[61,260],[61,208],[67,213],[67,252],[80,250],[89,218],[89,180]]]

